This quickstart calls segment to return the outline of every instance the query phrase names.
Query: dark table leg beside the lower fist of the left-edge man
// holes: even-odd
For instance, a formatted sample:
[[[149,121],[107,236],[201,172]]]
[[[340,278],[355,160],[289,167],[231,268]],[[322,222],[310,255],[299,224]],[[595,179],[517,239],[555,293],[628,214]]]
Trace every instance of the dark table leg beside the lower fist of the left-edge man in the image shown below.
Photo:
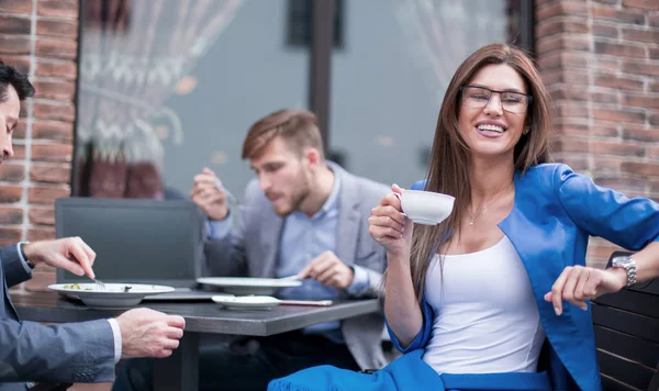
[[[199,390],[199,333],[186,332],[171,356],[155,360],[154,390]]]

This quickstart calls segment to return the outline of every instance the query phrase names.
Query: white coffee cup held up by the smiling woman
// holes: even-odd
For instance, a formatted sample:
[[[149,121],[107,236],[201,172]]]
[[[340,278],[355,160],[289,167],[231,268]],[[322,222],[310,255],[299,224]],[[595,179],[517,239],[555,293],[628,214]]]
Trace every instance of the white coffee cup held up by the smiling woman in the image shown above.
[[[401,200],[403,213],[416,224],[437,225],[453,212],[455,197],[424,190],[394,193]]]

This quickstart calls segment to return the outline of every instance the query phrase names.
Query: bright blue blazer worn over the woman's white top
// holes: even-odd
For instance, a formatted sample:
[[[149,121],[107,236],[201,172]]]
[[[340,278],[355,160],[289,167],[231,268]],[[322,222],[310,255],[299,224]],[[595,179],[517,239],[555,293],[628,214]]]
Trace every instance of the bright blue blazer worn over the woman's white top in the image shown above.
[[[659,204],[597,187],[566,165],[535,166],[523,176],[516,172],[514,179],[514,206],[499,227],[515,246],[528,273],[547,335],[543,358],[548,360],[545,369],[552,389],[600,390],[590,306],[583,311],[566,303],[557,316],[544,295],[567,266],[585,265],[589,236],[635,252],[659,242]],[[418,181],[413,189],[423,187],[424,181]],[[389,331],[403,353],[425,348],[431,338],[435,314],[425,299],[422,312],[421,331],[405,349]]]

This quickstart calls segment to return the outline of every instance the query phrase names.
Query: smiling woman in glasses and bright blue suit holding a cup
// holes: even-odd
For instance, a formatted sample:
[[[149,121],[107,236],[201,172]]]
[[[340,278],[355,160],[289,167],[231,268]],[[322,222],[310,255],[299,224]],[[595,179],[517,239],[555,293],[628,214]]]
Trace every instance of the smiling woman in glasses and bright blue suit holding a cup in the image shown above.
[[[393,185],[368,220],[387,249],[384,314],[404,356],[372,375],[312,368],[269,390],[602,389],[589,301],[659,276],[659,204],[549,163],[551,132],[526,54],[494,44],[469,56],[412,187],[455,197],[451,214],[415,224]],[[589,236],[638,253],[590,268]]]

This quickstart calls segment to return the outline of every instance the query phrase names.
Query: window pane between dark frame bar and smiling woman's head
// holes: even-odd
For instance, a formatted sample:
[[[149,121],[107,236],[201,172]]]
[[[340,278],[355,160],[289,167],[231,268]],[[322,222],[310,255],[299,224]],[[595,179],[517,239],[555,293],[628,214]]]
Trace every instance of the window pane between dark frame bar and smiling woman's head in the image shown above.
[[[423,178],[454,71],[478,47],[518,36],[513,11],[506,0],[346,1],[330,155],[386,183]]]

